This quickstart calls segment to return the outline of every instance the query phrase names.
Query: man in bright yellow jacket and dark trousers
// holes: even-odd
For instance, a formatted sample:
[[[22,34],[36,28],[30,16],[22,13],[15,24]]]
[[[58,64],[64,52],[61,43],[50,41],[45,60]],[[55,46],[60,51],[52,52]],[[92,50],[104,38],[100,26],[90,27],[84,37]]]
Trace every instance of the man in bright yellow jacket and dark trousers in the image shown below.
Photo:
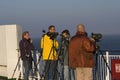
[[[45,80],[57,80],[57,35],[58,33],[55,31],[55,26],[50,25],[48,32],[41,39],[42,59],[45,61]]]

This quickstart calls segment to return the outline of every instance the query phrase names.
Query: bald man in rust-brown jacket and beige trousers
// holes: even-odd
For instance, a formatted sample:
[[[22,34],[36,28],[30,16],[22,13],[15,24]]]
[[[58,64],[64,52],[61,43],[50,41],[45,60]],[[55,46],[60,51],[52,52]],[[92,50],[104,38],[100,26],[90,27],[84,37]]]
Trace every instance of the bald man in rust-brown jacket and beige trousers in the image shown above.
[[[76,80],[93,80],[94,51],[94,39],[88,38],[85,26],[79,24],[69,44],[69,65],[76,69]]]

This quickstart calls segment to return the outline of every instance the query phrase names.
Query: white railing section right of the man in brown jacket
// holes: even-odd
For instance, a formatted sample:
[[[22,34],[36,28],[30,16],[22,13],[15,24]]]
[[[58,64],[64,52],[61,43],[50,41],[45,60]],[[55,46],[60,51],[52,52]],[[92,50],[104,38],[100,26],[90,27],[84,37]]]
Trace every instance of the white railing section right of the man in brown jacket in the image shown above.
[[[120,55],[109,55],[115,51],[104,51],[104,55],[98,54],[97,64],[93,69],[94,80],[112,80],[112,59],[120,59]],[[119,51],[120,53],[120,51]]]

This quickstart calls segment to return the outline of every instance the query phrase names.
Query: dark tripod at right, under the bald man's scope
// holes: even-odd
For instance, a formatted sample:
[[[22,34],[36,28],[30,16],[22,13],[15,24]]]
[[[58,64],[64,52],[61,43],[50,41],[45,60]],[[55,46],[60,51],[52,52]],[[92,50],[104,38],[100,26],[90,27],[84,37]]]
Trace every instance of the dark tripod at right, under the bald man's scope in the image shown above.
[[[101,55],[102,59],[104,60],[104,63],[106,64],[106,67],[108,68],[110,74],[112,74],[112,71],[110,70],[110,67],[102,53],[102,50],[100,49],[100,46],[96,42],[96,54],[95,54],[95,80],[99,80],[99,72],[98,72],[98,56]]]

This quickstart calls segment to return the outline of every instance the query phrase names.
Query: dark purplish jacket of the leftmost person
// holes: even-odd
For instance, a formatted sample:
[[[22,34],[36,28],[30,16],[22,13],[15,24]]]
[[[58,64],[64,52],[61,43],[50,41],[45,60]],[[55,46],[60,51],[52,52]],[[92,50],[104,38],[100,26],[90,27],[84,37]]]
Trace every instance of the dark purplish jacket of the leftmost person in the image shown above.
[[[29,40],[26,39],[22,39],[19,42],[19,48],[20,48],[20,53],[21,53],[21,59],[22,60],[26,60],[27,58],[31,58],[31,50],[34,50],[34,46],[32,43],[30,43]],[[27,57],[26,55],[29,55],[29,57]]]

